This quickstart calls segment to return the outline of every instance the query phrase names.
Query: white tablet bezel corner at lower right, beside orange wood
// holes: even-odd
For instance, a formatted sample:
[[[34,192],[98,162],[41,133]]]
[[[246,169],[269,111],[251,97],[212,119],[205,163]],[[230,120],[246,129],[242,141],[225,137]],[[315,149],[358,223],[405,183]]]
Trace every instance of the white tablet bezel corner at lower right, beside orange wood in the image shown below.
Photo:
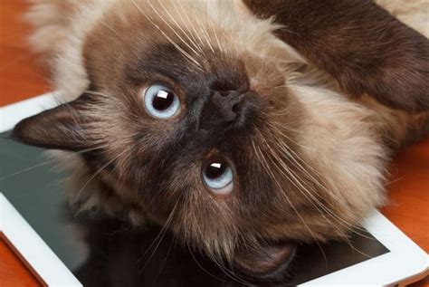
[[[428,273],[428,254],[384,215],[374,211],[363,226],[390,252],[330,273],[300,286],[377,285],[386,286],[423,279]]]

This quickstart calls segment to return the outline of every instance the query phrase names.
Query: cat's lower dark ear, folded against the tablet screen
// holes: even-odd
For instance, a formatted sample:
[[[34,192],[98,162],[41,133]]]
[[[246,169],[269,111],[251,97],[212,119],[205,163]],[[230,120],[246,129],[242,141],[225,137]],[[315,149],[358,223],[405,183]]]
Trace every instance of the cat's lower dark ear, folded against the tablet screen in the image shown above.
[[[289,266],[296,250],[297,245],[291,243],[238,248],[234,253],[234,268],[254,278],[275,277]]]

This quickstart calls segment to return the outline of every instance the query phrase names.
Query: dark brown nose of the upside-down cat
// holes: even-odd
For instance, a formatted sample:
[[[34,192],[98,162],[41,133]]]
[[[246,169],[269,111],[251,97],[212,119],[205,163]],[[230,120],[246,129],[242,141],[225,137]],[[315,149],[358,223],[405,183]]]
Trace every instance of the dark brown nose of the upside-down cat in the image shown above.
[[[241,91],[215,91],[205,103],[200,128],[225,127],[234,123],[240,116],[243,98],[244,93]]]

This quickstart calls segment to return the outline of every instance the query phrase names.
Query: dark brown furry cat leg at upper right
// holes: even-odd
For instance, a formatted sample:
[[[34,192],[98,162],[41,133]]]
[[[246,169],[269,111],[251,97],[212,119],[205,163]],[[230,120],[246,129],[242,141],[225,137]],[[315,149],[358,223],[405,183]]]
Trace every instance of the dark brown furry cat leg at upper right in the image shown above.
[[[370,0],[244,0],[276,34],[354,97],[429,110],[429,41]]]

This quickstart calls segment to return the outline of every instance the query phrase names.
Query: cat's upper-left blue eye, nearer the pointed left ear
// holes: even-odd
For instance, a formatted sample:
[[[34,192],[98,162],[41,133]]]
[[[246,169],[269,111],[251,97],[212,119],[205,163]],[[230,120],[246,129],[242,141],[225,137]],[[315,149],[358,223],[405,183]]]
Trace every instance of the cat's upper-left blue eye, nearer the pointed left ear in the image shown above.
[[[180,100],[174,91],[162,84],[153,84],[145,92],[145,107],[149,115],[168,119],[180,110]]]

